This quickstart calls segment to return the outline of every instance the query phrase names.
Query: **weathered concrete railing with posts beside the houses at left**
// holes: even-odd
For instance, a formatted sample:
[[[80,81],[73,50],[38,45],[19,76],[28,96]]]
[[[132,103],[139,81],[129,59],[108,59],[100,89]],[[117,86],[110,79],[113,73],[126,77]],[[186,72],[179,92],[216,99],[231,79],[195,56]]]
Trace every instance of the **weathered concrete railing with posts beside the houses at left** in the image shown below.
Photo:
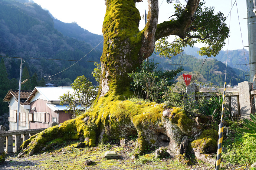
[[[4,152],[4,137],[6,137],[6,152],[13,153],[13,135],[15,136],[15,152],[17,152],[25,140],[29,139],[33,135],[36,135],[36,133],[42,132],[45,129],[47,128],[0,132],[0,153]]]

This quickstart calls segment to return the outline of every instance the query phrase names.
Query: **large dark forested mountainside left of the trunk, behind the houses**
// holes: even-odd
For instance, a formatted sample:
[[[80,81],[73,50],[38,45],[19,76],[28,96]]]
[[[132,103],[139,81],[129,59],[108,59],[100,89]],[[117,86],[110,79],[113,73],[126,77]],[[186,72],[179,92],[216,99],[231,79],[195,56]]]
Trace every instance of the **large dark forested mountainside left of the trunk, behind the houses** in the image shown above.
[[[65,25],[68,26],[60,30],[63,33],[56,29]],[[78,31],[76,34],[69,32],[72,29],[75,31],[80,29],[80,32]],[[79,37],[80,33],[82,34]],[[28,68],[30,76],[35,72],[39,78],[44,77],[44,75],[48,77],[57,74],[76,61],[47,59],[79,60],[98,45],[102,39],[101,35],[89,33],[89,31],[79,28],[77,24],[62,23],[53,19],[48,11],[43,10],[35,3],[0,0],[0,55],[24,58],[24,66]],[[93,68],[95,68],[93,62],[99,62],[102,47],[103,43],[75,66],[53,76],[53,83],[70,85],[80,75],[85,75],[93,81],[94,78],[91,75]],[[19,78],[20,59],[4,58],[4,63],[9,79]],[[51,82],[47,78],[45,81],[46,83]],[[67,82],[63,83],[65,81]]]

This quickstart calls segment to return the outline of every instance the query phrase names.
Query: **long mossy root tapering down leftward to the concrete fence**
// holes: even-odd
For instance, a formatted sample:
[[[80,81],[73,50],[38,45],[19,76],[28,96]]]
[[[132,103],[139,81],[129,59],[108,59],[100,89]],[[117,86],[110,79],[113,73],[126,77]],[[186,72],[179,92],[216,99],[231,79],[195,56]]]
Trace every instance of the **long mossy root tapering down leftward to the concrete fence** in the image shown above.
[[[83,114],[76,119],[68,120],[58,126],[53,126],[30,137],[29,140],[26,140],[22,144],[22,152],[20,152],[18,157],[40,152],[47,143],[55,139],[85,139],[85,145],[96,146],[95,131],[97,127],[94,124],[91,125],[88,119],[86,119],[87,117],[88,116],[86,114]]]

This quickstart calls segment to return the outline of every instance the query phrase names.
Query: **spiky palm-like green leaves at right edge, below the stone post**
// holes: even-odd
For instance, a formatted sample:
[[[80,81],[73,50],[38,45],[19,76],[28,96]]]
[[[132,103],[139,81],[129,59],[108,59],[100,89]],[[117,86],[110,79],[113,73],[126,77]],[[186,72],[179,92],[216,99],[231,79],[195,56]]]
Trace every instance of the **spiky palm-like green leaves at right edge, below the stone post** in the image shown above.
[[[248,129],[240,129],[242,132],[249,133],[249,136],[256,137],[256,116],[250,113],[251,120],[243,119],[243,126]]]

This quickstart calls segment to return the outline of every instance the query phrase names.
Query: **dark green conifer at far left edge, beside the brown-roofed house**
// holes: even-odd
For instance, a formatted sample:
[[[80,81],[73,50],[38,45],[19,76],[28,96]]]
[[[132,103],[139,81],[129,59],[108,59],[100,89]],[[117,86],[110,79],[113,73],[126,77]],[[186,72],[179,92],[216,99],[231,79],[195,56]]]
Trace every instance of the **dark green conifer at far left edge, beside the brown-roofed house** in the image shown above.
[[[3,102],[3,99],[10,88],[9,79],[7,77],[8,74],[4,65],[4,59],[2,58],[0,63],[0,115],[3,115],[3,113],[8,112],[9,110],[8,103]]]

